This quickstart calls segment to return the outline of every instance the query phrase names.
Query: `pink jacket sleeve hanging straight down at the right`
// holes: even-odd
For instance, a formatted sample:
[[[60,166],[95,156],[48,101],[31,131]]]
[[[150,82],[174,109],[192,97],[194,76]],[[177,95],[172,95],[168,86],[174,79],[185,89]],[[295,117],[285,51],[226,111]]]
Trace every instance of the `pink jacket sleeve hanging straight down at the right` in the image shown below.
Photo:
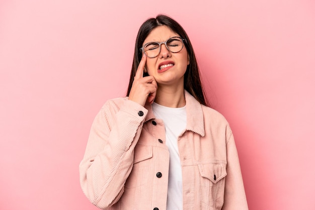
[[[222,210],[248,210],[238,151],[229,126],[227,126],[226,137],[227,175]]]

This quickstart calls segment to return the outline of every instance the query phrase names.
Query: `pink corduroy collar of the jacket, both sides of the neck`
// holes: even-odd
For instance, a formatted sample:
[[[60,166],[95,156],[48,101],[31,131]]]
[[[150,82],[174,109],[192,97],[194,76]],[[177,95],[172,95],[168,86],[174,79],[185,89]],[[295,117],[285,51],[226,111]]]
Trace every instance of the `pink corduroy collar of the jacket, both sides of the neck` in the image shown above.
[[[187,90],[185,90],[185,100],[187,114],[186,130],[195,132],[200,136],[204,136],[204,122],[201,104]],[[146,103],[144,108],[148,110],[148,113],[145,117],[145,122],[155,119],[151,104]]]

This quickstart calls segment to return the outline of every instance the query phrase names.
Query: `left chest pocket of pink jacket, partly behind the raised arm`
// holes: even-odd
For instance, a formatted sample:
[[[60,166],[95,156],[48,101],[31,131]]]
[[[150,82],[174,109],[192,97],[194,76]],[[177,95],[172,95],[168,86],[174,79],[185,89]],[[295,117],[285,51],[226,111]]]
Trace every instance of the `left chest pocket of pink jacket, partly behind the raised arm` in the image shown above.
[[[152,146],[137,144],[134,149],[133,167],[126,180],[126,188],[134,188],[149,184],[151,159],[153,156]]]

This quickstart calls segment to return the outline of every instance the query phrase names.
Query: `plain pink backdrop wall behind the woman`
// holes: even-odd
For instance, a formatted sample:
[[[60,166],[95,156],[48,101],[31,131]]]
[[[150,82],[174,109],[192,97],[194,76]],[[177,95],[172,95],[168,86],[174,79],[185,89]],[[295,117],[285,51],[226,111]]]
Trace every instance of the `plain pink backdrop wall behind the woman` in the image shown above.
[[[159,13],[191,38],[250,209],[315,209],[312,0],[2,0],[0,209],[97,209],[78,178],[90,126],[124,96],[138,28]]]

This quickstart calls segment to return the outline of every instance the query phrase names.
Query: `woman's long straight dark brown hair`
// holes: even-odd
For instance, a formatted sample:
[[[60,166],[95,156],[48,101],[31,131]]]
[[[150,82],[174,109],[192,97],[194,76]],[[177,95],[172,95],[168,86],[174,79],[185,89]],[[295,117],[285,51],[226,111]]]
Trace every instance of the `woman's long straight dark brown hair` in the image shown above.
[[[132,62],[132,68],[130,73],[130,80],[127,90],[127,96],[129,96],[133,79],[136,74],[139,62],[141,60],[141,50],[142,44],[145,40],[145,38],[149,35],[149,33],[155,29],[158,26],[167,26],[169,27],[173,32],[177,33],[180,37],[185,39],[185,47],[187,49],[187,53],[189,55],[189,65],[187,66],[185,75],[184,75],[184,88],[193,95],[201,104],[205,106],[209,106],[209,102],[207,101],[204,89],[201,84],[200,76],[199,76],[199,68],[197,64],[197,60],[195,57],[195,53],[193,50],[193,47],[191,45],[191,42],[183,29],[183,27],[177,23],[172,18],[166,16],[166,15],[158,15],[156,18],[150,18],[146,20],[140,27],[135,47],[134,47],[134,55],[133,55],[133,62]]]

